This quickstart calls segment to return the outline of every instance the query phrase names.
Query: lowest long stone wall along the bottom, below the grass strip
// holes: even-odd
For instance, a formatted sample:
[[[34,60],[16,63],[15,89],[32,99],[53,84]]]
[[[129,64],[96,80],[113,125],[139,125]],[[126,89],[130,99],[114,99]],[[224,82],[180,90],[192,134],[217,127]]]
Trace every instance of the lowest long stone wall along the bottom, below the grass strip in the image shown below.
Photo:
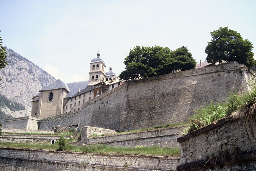
[[[138,170],[138,171],[155,171],[155,170],[175,170],[179,163],[179,158],[175,157],[157,157],[157,156],[136,156],[136,155],[113,155],[113,154],[87,154],[87,153],[74,153],[74,152],[58,152],[46,150],[29,150],[29,149],[13,149],[13,148],[0,148],[0,168],[11,167],[18,165],[17,160],[28,160],[25,164],[31,162],[28,168],[48,170],[50,163],[52,168],[63,169],[63,166],[58,165],[77,165],[81,166],[81,170]],[[34,161],[33,160],[38,160]],[[61,161],[65,161],[62,162]],[[38,162],[36,164],[36,162]],[[19,162],[21,168],[25,164]],[[84,168],[85,166],[87,168]],[[37,167],[40,166],[40,167]],[[94,166],[94,167],[93,167]],[[71,167],[71,166],[70,166]],[[27,169],[28,169],[27,168]],[[25,169],[24,169],[25,170]],[[63,169],[70,170],[70,168]],[[74,168],[74,170],[79,170]]]

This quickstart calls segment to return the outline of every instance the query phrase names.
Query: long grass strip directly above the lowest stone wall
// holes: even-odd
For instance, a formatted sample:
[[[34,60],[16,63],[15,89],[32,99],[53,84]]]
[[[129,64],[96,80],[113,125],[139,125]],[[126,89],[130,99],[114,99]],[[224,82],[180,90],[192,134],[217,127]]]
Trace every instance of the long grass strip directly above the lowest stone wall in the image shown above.
[[[37,149],[37,150],[58,150],[58,143],[55,144],[44,144],[44,143],[10,143],[10,142],[0,142],[0,147],[8,148],[23,148],[23,149]],[[86,145],[86,146],[75,146],[66,144],[66,149],[64,151],[72,152],[84,152],[84,153],[101,153],[101,154],[130,154],[130,155],[152,155],[152,156],[171,156],[179,157],[180,149],[169,148],[169,147],[112,147],[102,144],[97,145]]]

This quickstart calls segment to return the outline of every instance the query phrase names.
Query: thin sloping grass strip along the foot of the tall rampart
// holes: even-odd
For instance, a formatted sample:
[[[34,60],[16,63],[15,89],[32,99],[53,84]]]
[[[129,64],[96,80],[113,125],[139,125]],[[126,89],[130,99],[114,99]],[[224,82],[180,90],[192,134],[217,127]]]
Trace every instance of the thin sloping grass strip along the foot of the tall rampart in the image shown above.
[[[166,125],[160,125],[160,126],[155,126],[152,128],[144,128],[144,129],[138,129],[138,130],[132,130],[132,131],[127,131],[127,132],[117,132],[114,134],[92,134],[88,138],[94,138],[94,137],[102,137],[102,136],[110,136],[110,135],[117,135],[117,134],[127,134],[127,133],[135,133],[135,132],[141,132],[141,131],[150,131],[150,130],[156,130],[156,129],[161,129],[161,128],[171,128],[171,127],[177,127],[177,126],[185,126],[188,125],[189,123],[177,123],[177,124],[166,124]]]

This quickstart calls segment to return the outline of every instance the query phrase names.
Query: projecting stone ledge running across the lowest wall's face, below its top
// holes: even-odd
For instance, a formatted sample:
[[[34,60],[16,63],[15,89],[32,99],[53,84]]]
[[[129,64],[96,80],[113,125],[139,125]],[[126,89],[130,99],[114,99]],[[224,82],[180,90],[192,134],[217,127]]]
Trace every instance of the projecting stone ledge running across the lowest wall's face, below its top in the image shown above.
[[[76,162],[61,162],[61,161],[52,161],[52,160],[37,160],[37,159],[24,159],[19,157],[3,157],[1,159],[7,160],[18,160],[18,161],[27,161],[27,162],[39,162],[39,163],[50,163],[57,165],[73,165],[73,166],[82,166],[82,167],[91,167],[91,168],[101,168],[102,170],[125,170],[125,171],[165,171],[165,170],[155,170],[155,169],[140,169],[140,168],[129,168],[129,167],[118,167],[118,166],[106,166],[106,165],[95,165],[95,164],[83,164]]]

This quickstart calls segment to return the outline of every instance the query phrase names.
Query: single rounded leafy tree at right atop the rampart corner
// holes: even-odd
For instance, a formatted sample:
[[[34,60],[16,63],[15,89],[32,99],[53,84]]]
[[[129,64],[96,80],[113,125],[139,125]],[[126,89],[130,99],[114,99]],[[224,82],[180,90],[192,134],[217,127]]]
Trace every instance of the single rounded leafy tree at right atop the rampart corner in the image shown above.
[[[243,39],[240,33],[227,27],[220,27],[211,32],[212,40],[205,48],[207,62],[232,62],[247,65],[249,68],[256,63],[253,59],[253,44]]]

